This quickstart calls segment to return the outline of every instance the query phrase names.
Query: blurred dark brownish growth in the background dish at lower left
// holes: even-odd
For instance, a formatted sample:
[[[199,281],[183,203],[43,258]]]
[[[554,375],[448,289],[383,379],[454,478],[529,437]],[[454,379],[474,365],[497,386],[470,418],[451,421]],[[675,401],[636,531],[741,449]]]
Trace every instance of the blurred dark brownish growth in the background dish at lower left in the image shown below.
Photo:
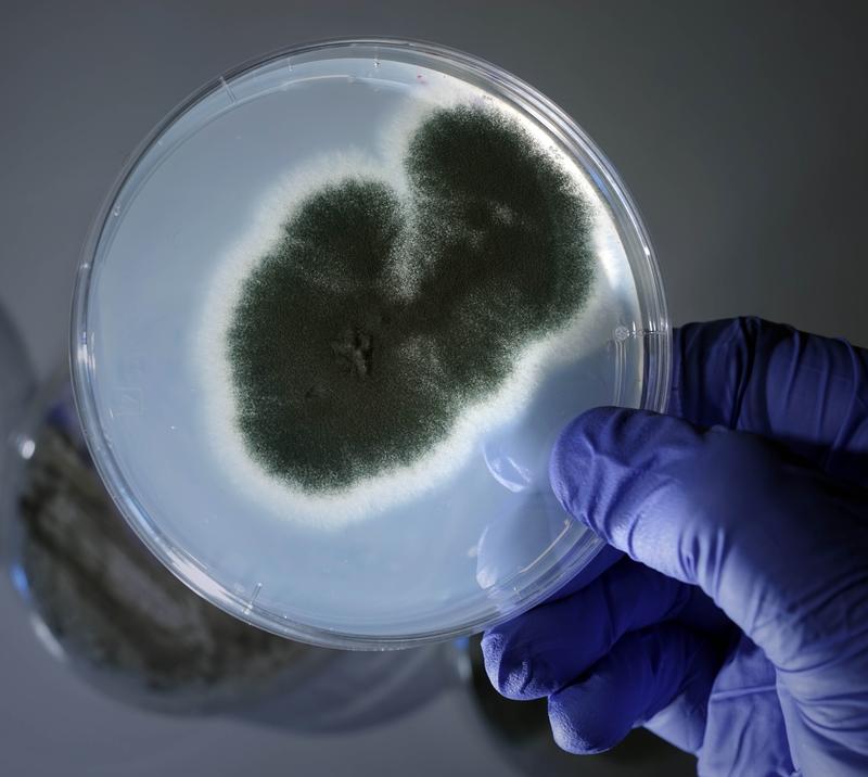
[[[35,435],[14,513],[16,577],[65,659],[125,701],[171,712],[241,708],[322,651],[218,610],[133,535],[85,448],[72,396]]]

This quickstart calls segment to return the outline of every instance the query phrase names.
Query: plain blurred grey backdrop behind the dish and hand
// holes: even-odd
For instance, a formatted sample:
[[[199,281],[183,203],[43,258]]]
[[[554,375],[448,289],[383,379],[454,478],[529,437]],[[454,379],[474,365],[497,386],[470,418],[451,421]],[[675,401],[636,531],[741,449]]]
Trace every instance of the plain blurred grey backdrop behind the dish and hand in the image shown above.
[[[867,23],[861,2],[0,0],[0,305],[46,377],[90,219],[167,111],[270,49],[395,35],[488,59],[578,120],[639,204],[675,323],[750,313],[868,344]],[[8,586],[0,616],[4,775],[518,774],[460,689],[341,737],[178,722],[72,678]]]

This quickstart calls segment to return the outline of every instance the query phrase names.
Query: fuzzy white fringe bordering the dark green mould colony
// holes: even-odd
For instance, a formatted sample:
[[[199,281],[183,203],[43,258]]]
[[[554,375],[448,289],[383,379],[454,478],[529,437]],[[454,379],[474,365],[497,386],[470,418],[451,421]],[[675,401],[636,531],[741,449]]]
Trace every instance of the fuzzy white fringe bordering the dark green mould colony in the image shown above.
[[[439,74],[436,74],[439,77]],[[485,399],[468,406],[456,419],[451,433],[411,466],[398,466],[376,476],[333,492],[306,493],[270,474],[247,451],[235,421],[235,400],[228,358],[227,332],[239,302],[243,281],[279,240],[281,228],[297,206],[316,189],[347,178],[363,177],[391,186],[404,199],[408,191],[401,162],[412,131],[426,113],[460,102],[480,102],[510,115],[534,137],[576,182],[591,212],[595,273],[603,272],[610,283],[624,281],[614,253],[623,251],[605,206],[590,180],[560,151],[546,132],[519,111],[496,104],[482,90],[452,78],[420,88],[410,110],[384,127],[378,157],[356,151],[321,156],[295,169],[263,196],[256,218],[225,254],[205,293],[199,330],[191,347],[199,366],[204,412],[213,454],[232,485],[257,507],[285,520],[299,521],[322,530],[334,530],[361,521],[418,497],[456,474],[477,449],[481,437],[509,422],[528,404],[540,379],[553,365],[580,356],[593,343],[585,336],[583,320],[592,320],[599,307],[591,294],[570,323],[551,335],[529,342],[516,357],[512,374]],[[595,281],[598,279],[595,278]]]

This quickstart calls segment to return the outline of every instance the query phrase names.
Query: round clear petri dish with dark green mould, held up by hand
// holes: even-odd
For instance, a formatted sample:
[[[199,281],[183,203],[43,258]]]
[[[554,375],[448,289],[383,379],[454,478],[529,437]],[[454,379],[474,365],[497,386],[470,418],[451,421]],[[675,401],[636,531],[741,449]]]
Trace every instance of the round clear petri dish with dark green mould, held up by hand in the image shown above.
[[[238,67],[141,144],[72,326],[97,468],[238,617],[385,649],[478,632],[601,547],[548,485],[584,409],[662,410],[653,252],[550,100],[439,46]]]

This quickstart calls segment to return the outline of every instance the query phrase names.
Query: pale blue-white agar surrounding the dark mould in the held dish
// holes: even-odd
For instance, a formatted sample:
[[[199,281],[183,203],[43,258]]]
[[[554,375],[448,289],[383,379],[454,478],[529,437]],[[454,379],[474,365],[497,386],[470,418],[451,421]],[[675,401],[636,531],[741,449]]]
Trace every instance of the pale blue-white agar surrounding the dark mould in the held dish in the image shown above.
[[[269,63],[149,149],[100,239],[87,328],[111,454],[139,513],[177,550],[176,571],[225,604],[221,589],[245,601],[238,614],[260,625],[385,641],[445,634],[521,607],[523,590],[595,545],[551,495],[548,457],[584,409],[639,405],[642,341],[629,335],[641,311],[597,179],[565,155],[595,211],[591,298],[441,449],[311,499],[261,472],[231,425],[227,315],[286,209],[321,176],[357,168],[400,191],[419,115],[468,99],[494,100],[557,147],[497,97],[416,64]]]

